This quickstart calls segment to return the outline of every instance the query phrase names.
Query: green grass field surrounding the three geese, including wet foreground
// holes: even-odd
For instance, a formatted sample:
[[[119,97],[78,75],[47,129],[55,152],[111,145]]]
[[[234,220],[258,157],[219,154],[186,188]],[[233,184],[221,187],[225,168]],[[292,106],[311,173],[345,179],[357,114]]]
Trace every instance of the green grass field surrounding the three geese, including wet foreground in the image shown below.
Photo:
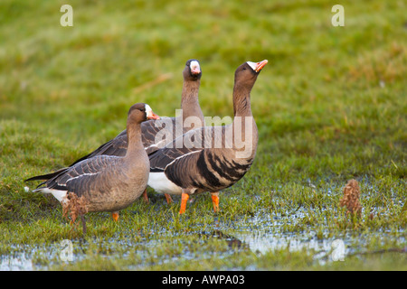
[[[62,27],[60,8],[73,7]],[[332,5],[345,26],[331,24]],[[1,270],[407,270],[407,18],[403,1],[0,2]],[[269,60],[251,92],[251,171],[185,215],[149,190],[114,223],[72,228],[24,179],[90,153],[128,107],[180,107],[201,61],[205,116],[232,117],[234,70]],[[360,217],[339,206],[361,188]],[[63,239],[73,261],[61,258]],[[335,241],[345,246],[336,261]]]

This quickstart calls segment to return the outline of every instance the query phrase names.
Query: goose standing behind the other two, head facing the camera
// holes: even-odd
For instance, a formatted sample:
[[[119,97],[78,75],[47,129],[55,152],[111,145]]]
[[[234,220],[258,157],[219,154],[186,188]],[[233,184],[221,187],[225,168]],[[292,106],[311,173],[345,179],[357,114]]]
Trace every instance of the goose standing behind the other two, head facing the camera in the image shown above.
[[[167,143],[171,143],[177,132],[175,132],[175,126],[183,127],[183,131],[180,135],[183,135],[188,130],[192,128],[198,128],[204,126],[204,114],[199,106],[199,99],[198,99],[198,92],[199,87],[201,84],[201,76],[202,70],[199,61],[191,59],[186,61],[185,69],[183,70],[183,90],[182,90],[182,97],[181,97],[181,108],[182,108],[182,118],[181,117],[163,117],[163,122],[169,121],[172,124],[173,130],[170,132],[172,137],[164,139],[162,142],[162,146]],[[188,117],[195,117],[194,119],[197,120],[194,123],[194,127],[184,127],[183,124],[185,123],[185,119]],[[141,124],[141,136],[143,146],[145,147],[147,154],[154,152],[158,149],[159,145],[156,144],[156,135],[163,129],[160,126],[156,126],[155,120],[150,120]],[[164,128],[165,129],[165,128]],[[80,163],[83,160],[89,159],[95,155],[117,155],[123,156],[126,154],[128,147],[128,137],[127,137],[127,130],[122,131],[118,134],[114,139],[110,140],[106,144],[101,144],[99,148],[93,151],[90,154],[87,154],[81,157],[79,160],[75,161],[70,165],[73,166],[76,163]],[[59,174],[60,172],[64,172],[66,169],[63,168],[59,171],[34,176],[30,179],[25,181],[36,181],[36,180],[49,180],[52,179],[55,175]],[[144,192],[144,199],[148,200],[147,198],[147,191]],[[172,201],[171,197],[166,194],[167,202]]]

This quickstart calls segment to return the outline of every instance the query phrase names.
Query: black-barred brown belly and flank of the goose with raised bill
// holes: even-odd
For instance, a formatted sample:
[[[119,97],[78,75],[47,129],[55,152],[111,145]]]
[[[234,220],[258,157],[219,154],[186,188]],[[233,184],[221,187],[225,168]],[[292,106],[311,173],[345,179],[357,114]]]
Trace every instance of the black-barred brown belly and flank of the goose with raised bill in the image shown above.
[[[253,159],[237,163],[221,153],[214,149],[187,155],[177,160],[176,165],[167,167],[166,176],[181,188],[194,188],[197,192],[230,187],[249,171]]]

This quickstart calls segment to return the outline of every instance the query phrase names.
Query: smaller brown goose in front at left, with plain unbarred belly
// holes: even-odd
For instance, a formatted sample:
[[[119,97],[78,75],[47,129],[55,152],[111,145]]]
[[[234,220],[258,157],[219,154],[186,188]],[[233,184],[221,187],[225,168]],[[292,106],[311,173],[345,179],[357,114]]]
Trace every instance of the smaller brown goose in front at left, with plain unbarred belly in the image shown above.
[[[33,191],[52,193],[69,205],[72,193],[81,198],[84,212],[109,211],[118,220],[118,211],[137,200],[147,187],[149,162],[141,142],[141,123],[158,119],[151,108],[137,103],[128,110],[128,149],[124,156],[96,155],[76,163],[43,182]]]

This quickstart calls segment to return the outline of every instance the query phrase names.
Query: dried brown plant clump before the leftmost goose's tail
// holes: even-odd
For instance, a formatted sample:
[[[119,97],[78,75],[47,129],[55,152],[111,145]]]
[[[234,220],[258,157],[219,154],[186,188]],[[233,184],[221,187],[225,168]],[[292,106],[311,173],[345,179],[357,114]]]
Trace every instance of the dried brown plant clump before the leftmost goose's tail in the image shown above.
[[[78,216],[80,216],[83,233],[86,234],[86,224],[83,215],[88,212],[88,201],[83,196],[78,197],[76,193],[71,191],[67,194],[67,199],[68,200],[62,204],[62,216],[66,219],[71,217],[71,224],[74,224]]]

